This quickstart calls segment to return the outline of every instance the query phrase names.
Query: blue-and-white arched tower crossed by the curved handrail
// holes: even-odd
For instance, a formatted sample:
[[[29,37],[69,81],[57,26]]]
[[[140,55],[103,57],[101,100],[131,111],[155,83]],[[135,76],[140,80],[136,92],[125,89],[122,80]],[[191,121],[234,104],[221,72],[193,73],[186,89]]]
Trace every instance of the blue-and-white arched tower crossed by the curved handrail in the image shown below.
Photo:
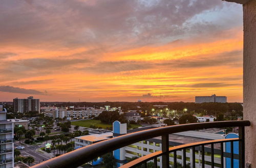
[[[121,124],[119,121],[113,123],[113,137],[127,134],[126,123]],[[117,167],[120,167],[125,163],[125,148],[117,149],[113,152],[115,159],[117,160]]]

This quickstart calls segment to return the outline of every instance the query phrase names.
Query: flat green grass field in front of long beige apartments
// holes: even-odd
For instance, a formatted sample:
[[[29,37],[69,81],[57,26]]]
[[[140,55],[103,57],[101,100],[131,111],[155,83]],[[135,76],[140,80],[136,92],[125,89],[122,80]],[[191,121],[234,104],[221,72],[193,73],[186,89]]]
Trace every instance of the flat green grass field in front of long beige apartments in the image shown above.
[[[104,124],[104,123],[101,123],[100,120],[74,121],[74,122],[71,122],[71,125],[78,125],[78,126],[81,126],[81,127],[88,127],[88,128],[90,127],[90,125],[94,125],[96,127],[102,127],[103,129],[106,129],[106,127],[112,127],[112,124]],[[132,128],[139,127],[136,124],[131,124],[131,125],[132,125]]]

